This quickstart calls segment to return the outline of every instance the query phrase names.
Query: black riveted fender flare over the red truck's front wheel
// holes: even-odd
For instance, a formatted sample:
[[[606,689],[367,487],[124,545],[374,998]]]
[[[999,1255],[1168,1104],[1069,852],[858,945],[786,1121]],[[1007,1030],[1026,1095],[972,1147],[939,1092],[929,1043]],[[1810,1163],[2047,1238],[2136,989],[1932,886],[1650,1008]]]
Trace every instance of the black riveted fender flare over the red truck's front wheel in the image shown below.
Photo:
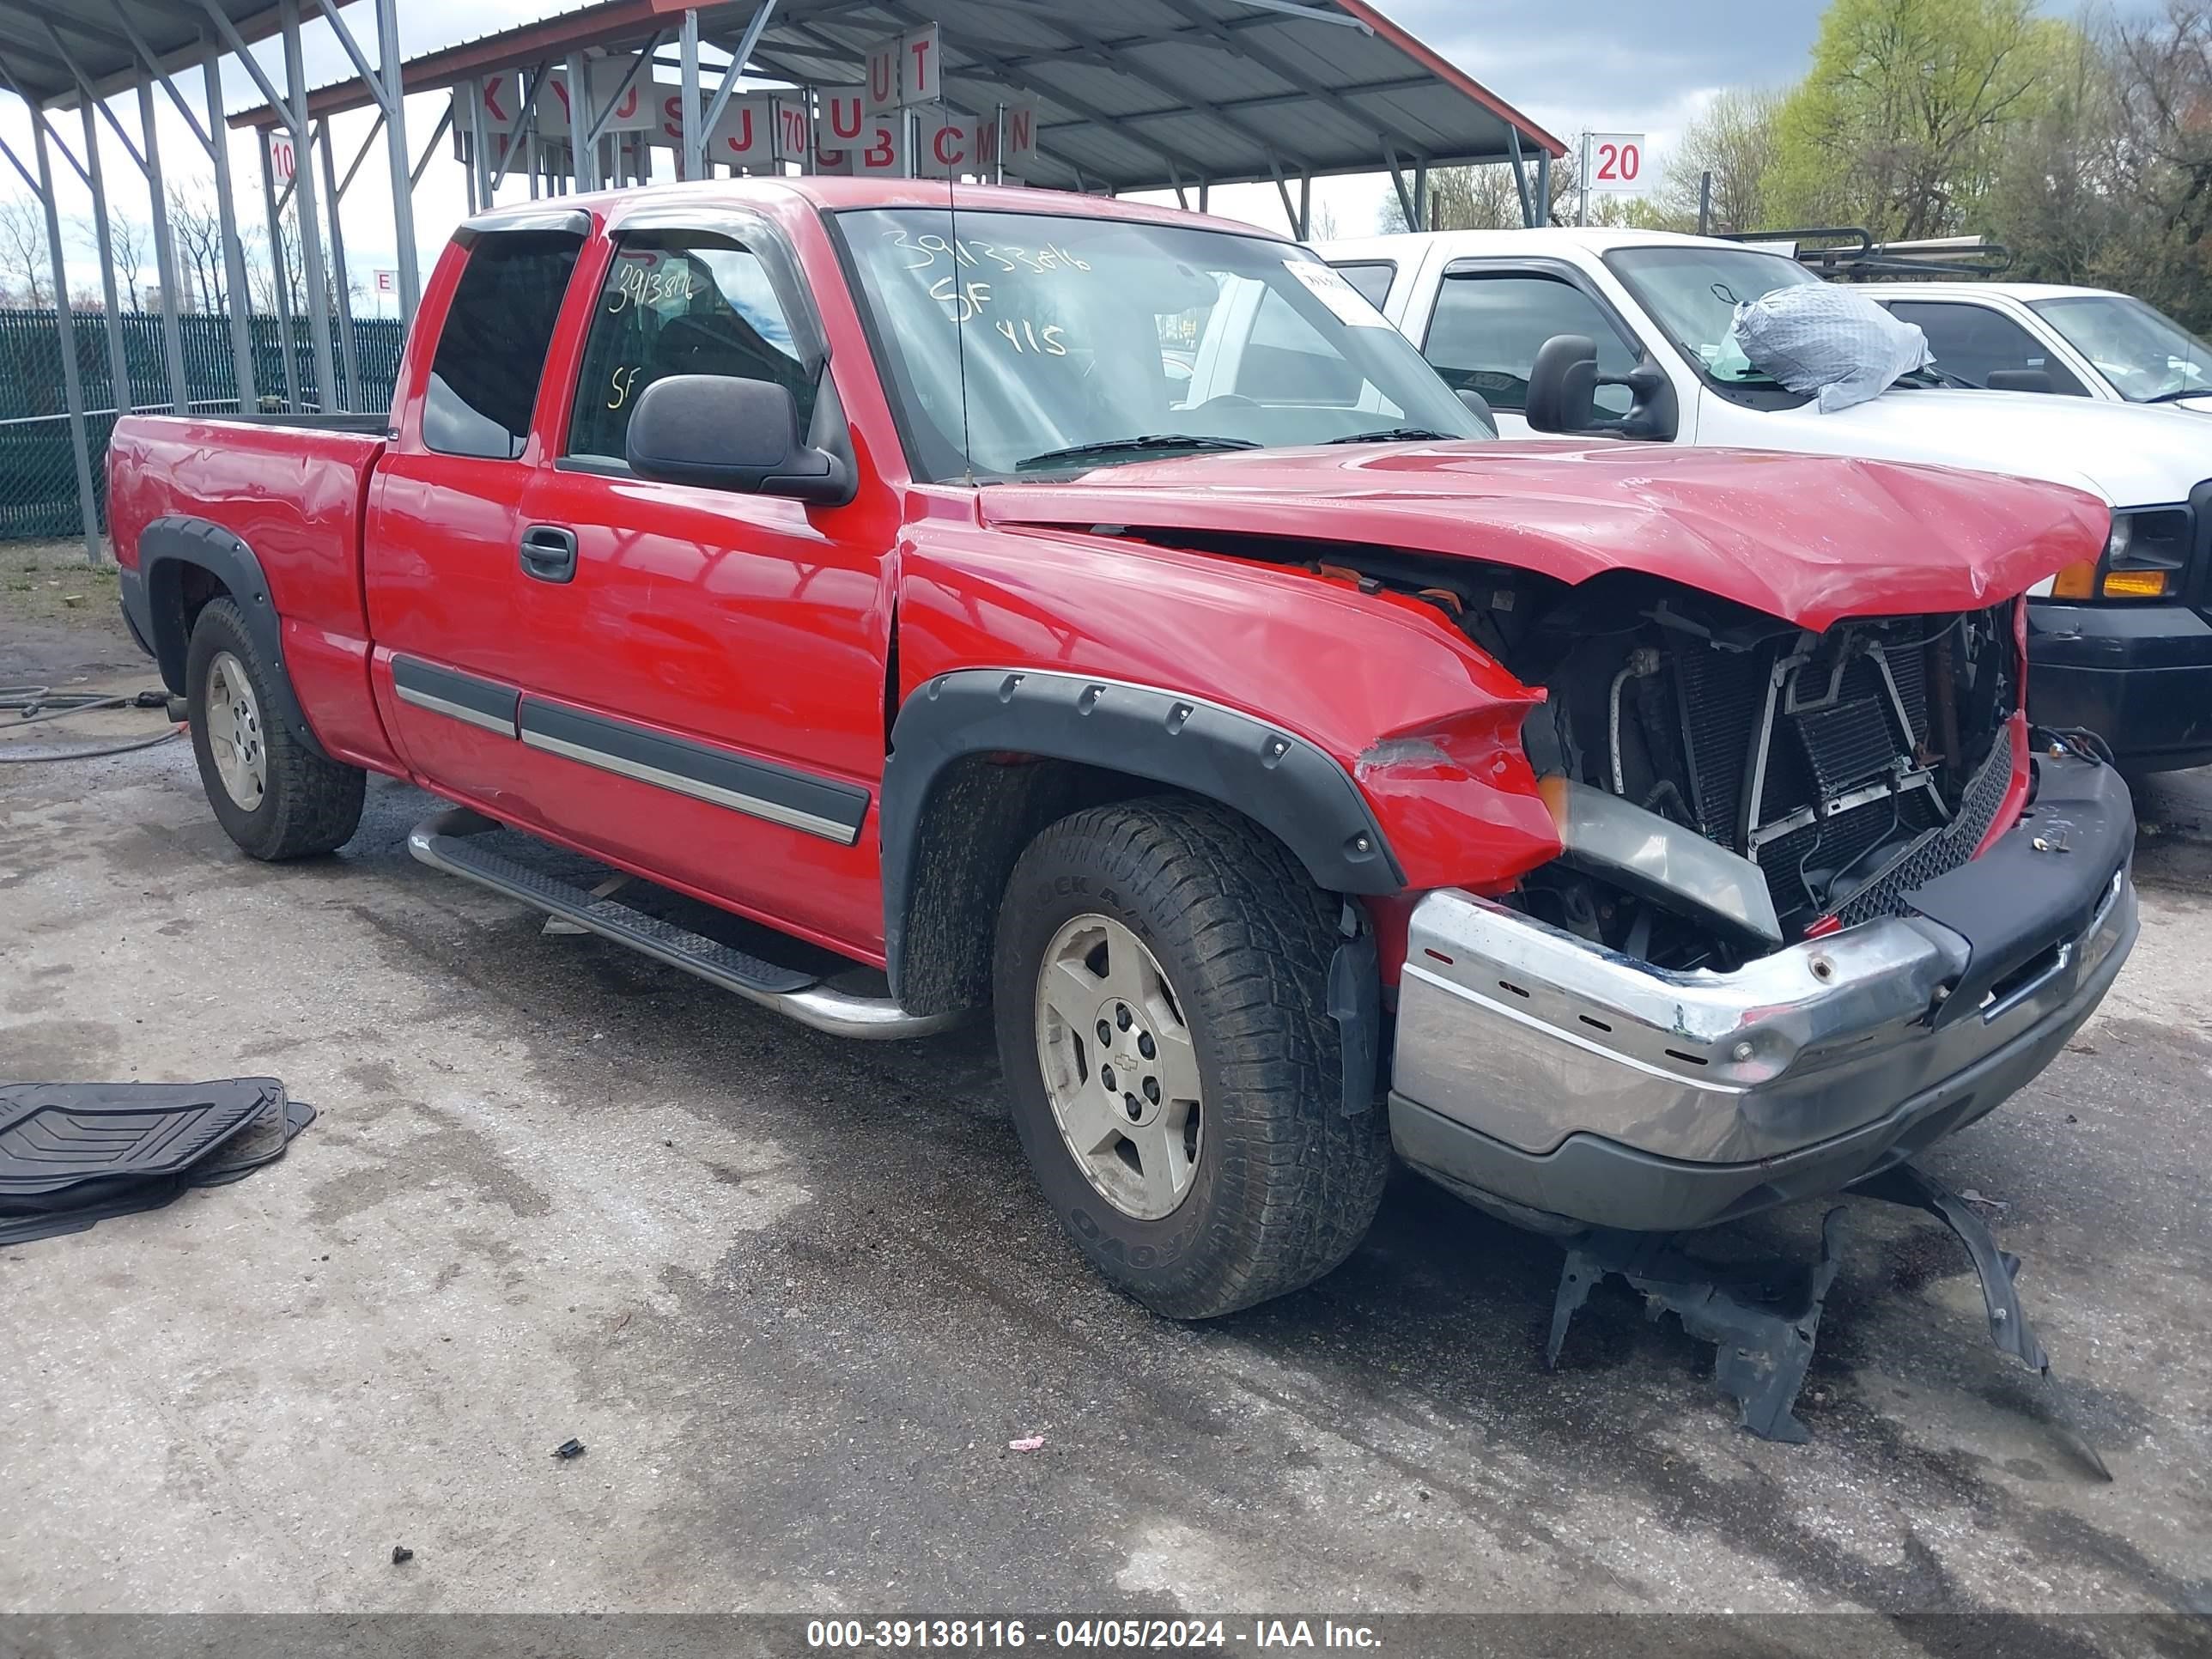
[[[883,938],[900,984],[920,827],[938,774],[964,754],[1035,754],[1221,801],[1276,836],[1334,894],[1396,894],[1405,872],[1336,757],[1188,692],[1035,668],[962,668],[918,688],[883,768]]]

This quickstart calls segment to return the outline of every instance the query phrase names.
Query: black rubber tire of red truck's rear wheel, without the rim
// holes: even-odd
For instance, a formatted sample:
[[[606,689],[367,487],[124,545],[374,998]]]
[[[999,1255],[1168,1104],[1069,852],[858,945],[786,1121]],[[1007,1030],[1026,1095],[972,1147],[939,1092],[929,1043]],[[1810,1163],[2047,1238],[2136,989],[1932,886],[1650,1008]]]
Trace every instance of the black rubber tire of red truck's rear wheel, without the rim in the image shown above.
[[[230,799],[208,743],[208,675],[219,655],[230,655],[246,670],[268,750],[268,787],[252,810]],[[248,856],[270,863],[334,852],[352,841],[367,787],[367,772],[323,759],[285,726],[276,697],[281,675],[283,668],[254,648],[237,604],[215,599],[195,617],[184,655],[184,686],[199,783],[223,834]]]

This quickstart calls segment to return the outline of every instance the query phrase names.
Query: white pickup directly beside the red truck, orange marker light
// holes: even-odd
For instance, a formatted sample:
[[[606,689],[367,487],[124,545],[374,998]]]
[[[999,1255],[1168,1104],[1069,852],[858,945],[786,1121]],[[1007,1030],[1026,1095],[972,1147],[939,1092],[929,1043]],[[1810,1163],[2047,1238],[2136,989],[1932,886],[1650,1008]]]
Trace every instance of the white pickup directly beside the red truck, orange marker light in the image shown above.
[[[2197,420],[1927,372],[1820,414],[1730,341],[1739,301],[1820,279],[1732,241],[1440,230],[1321,252],[1453,387],[1480,394],[1504,436],[1918,460],[2101,495],[2104,557],[2062,571],[2028,606],[2031,714],[2099,732],[2135,770],[2212,761],[2212,440]]]

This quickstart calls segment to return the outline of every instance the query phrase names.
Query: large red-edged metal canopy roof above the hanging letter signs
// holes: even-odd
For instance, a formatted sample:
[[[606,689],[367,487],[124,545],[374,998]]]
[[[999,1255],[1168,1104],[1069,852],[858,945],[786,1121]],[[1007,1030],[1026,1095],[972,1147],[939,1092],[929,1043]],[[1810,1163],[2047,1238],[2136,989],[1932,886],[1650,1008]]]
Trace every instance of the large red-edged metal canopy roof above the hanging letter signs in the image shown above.
[[[407,64],[407,88],[580,49],[635,51],[675,27],[666,4],[606,0],[447,46]],[[701,35],[734,51],[754,11],[701,7]],[[927,22],[940,24],[949,104],[978,115],[1037,106],[1033,184],[1159,190],[1566,153],[1367,0],[779,0],[748,71],[858,84],[869,46]],[[312,93],[307,113],[367,102],[358,80],[338,82]],[[270,108],[230,117],[276,119]]]

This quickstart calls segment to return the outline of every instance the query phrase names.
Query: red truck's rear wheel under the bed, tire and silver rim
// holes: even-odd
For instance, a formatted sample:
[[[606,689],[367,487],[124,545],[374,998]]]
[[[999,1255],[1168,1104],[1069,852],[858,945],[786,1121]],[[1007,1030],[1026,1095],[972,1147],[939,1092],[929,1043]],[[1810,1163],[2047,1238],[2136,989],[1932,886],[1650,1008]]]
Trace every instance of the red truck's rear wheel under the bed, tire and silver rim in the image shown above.
[[[246,617],[215,599],[192,622],[184,659],[192,757],[217,823],[254,858],[343,847],[361,825],[367,774],[330,761],[279,717],[276,675]]]

